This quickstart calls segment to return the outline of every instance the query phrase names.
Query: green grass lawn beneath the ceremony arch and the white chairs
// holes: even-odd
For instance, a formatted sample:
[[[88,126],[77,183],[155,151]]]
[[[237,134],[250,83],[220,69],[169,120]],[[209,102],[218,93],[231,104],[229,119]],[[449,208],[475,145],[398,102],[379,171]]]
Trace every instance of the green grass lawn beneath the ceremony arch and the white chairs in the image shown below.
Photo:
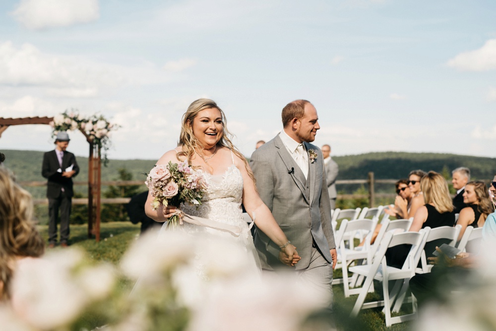
[[[48,241],[48,226],[40,225],[39,230]],[[110,222],[102,223],[100,231],[100,242],[95,239],[88,239],[88,227],[86,224],[70,226],[70,241],[69,244],[83,248],[88,255],[96,261],[106,261],[117,265],[122,258],[124,252],[129,247],[130,243],[139,235],[139,225],[134,225],[130,222]],[[59,247],[56,250],[61,249]],[[334,278],[341,278],[341,270],[334,272]],[[382,297],[382,286],[380,283],[375,283],[376,293],[369,293],[366,302],[377,300]],[[130,287],[131,283],[123,284]],[[356,331],[356,330],[390,330],[403,331],[408,330],[410,322],[393,325],[386,328],[384,323],[384,315],[381,308],[367,309],[360,313],[359,319],[352,321],[349,314],[355,304],[357,295],[352,295],[349,298],[344,297],[343,285],[334,285],[334,310],[336,315],[336,325],[339,330]],[[408,306],[407,304],[404,307]]]

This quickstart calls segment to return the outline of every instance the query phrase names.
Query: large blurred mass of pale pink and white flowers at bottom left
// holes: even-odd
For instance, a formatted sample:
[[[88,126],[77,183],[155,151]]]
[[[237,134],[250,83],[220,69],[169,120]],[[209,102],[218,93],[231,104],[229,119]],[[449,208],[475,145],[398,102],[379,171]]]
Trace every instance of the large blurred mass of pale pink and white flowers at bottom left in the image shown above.
[[[247,256],[219,236],[171,231],[136,240],[120,269],[90,263],[73,247],[24,259],[12,304],[0,307],[0,329],[301,330],[325,298],[301,287],[294,272],[262,281]]]

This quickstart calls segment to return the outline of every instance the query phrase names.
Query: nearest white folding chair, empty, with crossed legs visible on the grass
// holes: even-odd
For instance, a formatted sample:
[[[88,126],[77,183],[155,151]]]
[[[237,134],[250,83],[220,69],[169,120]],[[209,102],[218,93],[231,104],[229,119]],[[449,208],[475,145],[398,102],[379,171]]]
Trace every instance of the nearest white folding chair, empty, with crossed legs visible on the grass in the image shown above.
[[[387,232],[381,241],[379,250],[373,258],[372,264],[350,267],[350,271],[366,276],[364,286],[362,287],[355,306],[353,307],[353,311],[351,313],[352,317],[356,317],[361,309],[383,306],[386,326],[389,327],[392,324],[411,320],[416,316],[417,303],[413,296],[411,298],[413,308],[412,314],[391,317],[391,306],[396,299],[399,288],[403,284],[408,286],[410,278],[415,274],[415,268],[418,263],[418,261],[415,261],[415,257],[418,250],[423,249],[423,244],[425,243],[424,238],[424,229],[421,229],[419,232],[403,232],[394,235],[391,232]],[[402,244],[412,245],[402,268],[399,269],[388,266],[384,256],[386,250]],[[367,296],[374,279],[382,282],[384,300],[365,303],[365,297]],[[389,292],[390,280],[396,280],[391,293]]]

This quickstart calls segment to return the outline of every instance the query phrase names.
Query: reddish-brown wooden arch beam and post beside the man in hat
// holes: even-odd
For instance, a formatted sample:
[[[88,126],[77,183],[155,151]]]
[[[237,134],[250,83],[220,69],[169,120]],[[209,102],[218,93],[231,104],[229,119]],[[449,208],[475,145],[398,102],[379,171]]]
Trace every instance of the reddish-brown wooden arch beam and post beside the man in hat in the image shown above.
[[[50,124],[53,117],[24,117],[24,118],[2,118],[0,117],[0,138],[1,134],[9,126],[23,124]],[[79,130],[89,143],[88,157],[88,238],[95,235],[95,240],[100,241],[100,210],[101,210],[101,173],[102,158],[101,146],[95,143],[83,130]]]

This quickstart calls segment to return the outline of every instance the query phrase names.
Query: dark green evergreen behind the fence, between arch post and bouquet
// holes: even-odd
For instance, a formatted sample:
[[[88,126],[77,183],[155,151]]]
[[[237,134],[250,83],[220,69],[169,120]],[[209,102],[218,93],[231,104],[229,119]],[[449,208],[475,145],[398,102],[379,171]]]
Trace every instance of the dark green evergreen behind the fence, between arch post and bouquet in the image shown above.
[[[118,181],[132,181],[132,174],[125,168],[119,168]],[[134,195],[143,191],[140,185],[131,186],[109,186],[103,196],[105,198],[131,198]],[[125,204],[103,204],[102,205],[102,222],[116,222],[116,221],[129,221]]]

